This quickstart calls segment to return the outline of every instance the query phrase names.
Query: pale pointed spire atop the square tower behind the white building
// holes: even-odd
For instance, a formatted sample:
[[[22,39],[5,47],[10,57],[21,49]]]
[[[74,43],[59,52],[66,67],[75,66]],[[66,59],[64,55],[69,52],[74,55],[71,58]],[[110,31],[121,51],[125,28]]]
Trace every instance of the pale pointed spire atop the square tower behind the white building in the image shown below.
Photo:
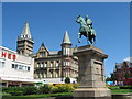
[[[25,26],[22,31],[21,37],[26,37],[26,38],[31,38],[31,32],[30,32],[30,28],[29,28],[29,22],[25,23]]]

